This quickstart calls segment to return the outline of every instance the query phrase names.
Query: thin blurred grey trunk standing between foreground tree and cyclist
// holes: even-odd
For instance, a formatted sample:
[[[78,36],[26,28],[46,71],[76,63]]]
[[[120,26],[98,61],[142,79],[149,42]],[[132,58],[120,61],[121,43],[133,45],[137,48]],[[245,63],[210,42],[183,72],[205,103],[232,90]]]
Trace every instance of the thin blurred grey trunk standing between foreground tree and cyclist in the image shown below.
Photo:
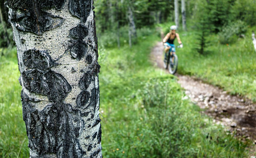
[[[137,32],[136,32],[136,26],[134,22],[133,11],[130,6],[128,8],[128,19],[129,19],[129,45],[130,47],[132,47],[132,43],[136,42],[137,40]]]

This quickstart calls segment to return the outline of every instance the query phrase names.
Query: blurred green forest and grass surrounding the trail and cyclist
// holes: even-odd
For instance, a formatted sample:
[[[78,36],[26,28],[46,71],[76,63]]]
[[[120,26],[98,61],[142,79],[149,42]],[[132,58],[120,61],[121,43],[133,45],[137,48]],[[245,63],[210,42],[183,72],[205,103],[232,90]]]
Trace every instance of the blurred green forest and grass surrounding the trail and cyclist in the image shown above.
[[[1,2],[0,156],[28,157],[12,29]],[[178,73],[256,101],[255,0],[186,0]],[[104,157],[248,157],[241,141],[184,99],[176,77],[150,62],[151,48],[175,25],[172,0],[96,0]],[[177,43],[176,43],[177,44]],[[253,153],[252,153],[253,152]]]

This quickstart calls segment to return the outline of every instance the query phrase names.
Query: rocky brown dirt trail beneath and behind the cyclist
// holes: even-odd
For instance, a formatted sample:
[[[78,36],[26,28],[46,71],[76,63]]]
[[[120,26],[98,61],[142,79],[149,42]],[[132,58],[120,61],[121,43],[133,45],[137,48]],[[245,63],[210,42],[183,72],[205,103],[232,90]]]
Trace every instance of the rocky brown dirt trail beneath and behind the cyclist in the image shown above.
[[[156,66],[164,69],[162,53],[163,45],[158,42],[151,52],[151,59]],[[236,131],[237,136],[251,139],[256,144],[256,104],[246,98],[228,95],[222,89],[199,79],[176,76],[178,83],[185,89],[184,99],[190,99],[205,109],[205,114],[213,117],[217,124],[228,127],[227,130],[231,132]]]

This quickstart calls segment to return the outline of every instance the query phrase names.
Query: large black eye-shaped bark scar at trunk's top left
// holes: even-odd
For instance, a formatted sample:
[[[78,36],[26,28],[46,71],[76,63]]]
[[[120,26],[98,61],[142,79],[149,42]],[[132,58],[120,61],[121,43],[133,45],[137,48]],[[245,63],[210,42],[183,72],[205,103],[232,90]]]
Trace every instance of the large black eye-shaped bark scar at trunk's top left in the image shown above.
[[[20,13],[13,12],[11,22],[14,26],[25,32],[32,32],[41,35],[60,26],[63,18],[54,16],[42,11],[43,9],[56,8],[60,10],[65,0],[8,0],[7,5],[13,10],[19,10]]]

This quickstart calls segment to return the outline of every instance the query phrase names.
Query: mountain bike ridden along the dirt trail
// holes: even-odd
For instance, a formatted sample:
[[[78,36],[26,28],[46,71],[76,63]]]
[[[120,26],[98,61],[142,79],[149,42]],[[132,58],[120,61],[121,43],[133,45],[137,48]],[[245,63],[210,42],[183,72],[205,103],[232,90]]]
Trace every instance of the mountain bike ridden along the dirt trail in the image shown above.
[[[180,46],[177,48],[180,48]],[[169,73],[174,75],[178,69],[178,56],[175,54],[175,52],[172,52],[172,54],[170,52],[172,52],[172,49],[169,49],[167,53],[164,53],[163,64],[164,69],[168,69]]]

